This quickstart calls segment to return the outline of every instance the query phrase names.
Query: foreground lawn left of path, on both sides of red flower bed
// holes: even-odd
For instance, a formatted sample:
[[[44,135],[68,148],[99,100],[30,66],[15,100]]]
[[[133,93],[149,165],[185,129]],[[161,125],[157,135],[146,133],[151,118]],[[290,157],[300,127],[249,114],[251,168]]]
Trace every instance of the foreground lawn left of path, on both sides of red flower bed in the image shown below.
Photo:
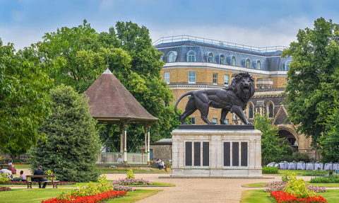
[[[71,189],[69,189],[71,190]],[[155,195],[162,190],[137,190],[127,192],[126,197],[112,199],[109,202],[137,202],[146,197]],[[1,192],[1,203],[37,203],[52,197],[58,197],[61,194],[59,189],[12,189],[11,191]]]

